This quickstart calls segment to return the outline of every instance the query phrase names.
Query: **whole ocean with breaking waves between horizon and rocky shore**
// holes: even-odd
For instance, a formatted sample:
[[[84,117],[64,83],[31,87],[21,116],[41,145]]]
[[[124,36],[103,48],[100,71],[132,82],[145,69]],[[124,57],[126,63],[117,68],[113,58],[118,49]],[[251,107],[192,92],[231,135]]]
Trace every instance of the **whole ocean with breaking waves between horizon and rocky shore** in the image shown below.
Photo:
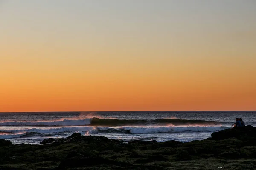
[[[122,111],[0,113],[0,139],[39,144],[75,132],[112,139],[189,142],[231,128],[236,117],[256,126],[256,111]]]

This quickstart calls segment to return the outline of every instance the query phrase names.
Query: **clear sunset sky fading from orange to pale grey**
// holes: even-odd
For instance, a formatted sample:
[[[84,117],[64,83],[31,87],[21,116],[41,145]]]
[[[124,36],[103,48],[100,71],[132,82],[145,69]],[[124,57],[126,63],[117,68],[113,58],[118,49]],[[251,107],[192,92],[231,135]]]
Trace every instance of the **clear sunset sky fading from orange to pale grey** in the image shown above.
[[[256,110],[255,0],[0,0],[0,112]]]

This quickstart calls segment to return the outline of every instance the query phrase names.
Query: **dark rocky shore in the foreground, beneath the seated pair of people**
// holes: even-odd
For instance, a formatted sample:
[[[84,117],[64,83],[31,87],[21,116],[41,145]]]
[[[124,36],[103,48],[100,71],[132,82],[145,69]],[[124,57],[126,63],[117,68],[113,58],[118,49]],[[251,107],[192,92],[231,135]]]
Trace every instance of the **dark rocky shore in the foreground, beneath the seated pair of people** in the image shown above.
[[[74,133],[42,145],[0,139],[0,170],[256,170],[256,127],[203,141],[131,141]]]

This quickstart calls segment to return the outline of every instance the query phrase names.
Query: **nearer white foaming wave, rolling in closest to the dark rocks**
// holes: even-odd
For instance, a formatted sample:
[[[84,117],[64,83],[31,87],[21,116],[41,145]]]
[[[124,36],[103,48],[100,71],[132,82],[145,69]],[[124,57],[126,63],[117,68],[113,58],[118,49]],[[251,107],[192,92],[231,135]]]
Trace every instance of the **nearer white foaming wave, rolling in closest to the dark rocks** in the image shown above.
[[[40,136],[45,134],[58,134],[58,133],[74,133],[79,132],[82,134],[100,134],[100,133],[132,133],[132,134],[146,134],[146,133],[172,133],[172,132],[215,132],[229,127],[224,126],[187,126],[187,127],[59,127],[59,128],[31,128],[20,130],[0,130],[0,139],[9,139],[13,137],[28,137]]]

